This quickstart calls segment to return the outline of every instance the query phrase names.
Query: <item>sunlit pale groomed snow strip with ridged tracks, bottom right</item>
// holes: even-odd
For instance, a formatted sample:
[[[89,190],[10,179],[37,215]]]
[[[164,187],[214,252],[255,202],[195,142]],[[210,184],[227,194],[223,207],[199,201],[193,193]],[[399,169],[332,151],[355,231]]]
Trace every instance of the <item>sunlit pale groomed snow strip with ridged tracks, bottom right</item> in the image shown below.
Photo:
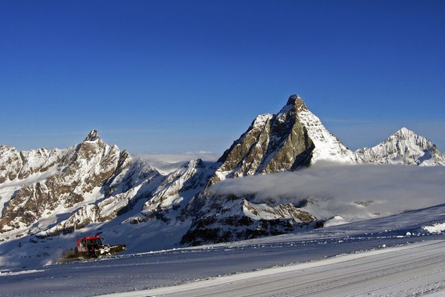
[[[332,257],[108,296],[407,296],[443,292],[445,242]]]

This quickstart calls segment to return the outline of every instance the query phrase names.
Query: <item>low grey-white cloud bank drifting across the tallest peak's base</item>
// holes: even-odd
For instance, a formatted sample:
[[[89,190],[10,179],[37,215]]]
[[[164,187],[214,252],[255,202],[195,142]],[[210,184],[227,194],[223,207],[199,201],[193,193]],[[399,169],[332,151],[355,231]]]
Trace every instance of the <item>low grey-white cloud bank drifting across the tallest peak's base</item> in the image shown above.
[[[364,220],[445,203],[445,168],[318,163],[280,172],[221,181],[215,194],[253,196],[256,203],[298,203],[318,218]]]

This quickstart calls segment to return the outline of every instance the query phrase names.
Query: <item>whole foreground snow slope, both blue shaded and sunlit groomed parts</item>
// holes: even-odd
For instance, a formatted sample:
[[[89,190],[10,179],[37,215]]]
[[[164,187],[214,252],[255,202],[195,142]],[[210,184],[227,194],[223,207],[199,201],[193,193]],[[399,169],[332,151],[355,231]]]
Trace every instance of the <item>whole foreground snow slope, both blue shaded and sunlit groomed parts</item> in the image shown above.
[[[445,205],[307,233],[0,273],[1,296],[444,296]]]

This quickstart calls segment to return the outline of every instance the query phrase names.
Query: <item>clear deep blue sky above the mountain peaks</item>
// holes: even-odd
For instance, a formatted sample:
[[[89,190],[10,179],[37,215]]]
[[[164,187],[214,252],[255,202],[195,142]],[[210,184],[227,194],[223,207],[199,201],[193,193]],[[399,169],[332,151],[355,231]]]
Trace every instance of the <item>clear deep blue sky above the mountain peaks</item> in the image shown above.
[[[445,1],[0,1],[0,143],[221,153],[290,94],[445,150]]]

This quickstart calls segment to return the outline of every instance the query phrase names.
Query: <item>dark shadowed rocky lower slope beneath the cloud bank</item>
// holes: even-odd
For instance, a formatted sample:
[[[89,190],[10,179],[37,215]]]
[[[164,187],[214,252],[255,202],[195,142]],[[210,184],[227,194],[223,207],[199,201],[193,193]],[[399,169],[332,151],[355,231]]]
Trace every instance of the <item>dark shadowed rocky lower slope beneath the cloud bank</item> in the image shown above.
[[[248,240],[323,225],[323,220],[317,220],[291,203],[274,207],[249,201],[251,198],[235,194],[212,196],[196,215],[181,243],[196,246]]]

